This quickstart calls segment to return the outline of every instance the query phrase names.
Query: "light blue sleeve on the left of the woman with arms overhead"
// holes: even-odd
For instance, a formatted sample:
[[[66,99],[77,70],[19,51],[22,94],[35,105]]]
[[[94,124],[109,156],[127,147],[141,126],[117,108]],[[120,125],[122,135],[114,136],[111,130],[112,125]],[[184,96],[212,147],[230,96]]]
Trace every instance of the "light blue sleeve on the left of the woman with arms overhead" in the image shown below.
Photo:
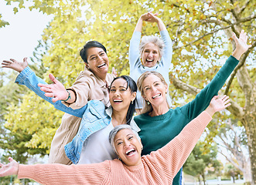
[[[141,65],[140,54],[139,54],[139,43],[141,42],[142,32],[134,32],[130,40],[129,47],[129,64],[130,71]],[[140,62],[140,63],[138,63]]]

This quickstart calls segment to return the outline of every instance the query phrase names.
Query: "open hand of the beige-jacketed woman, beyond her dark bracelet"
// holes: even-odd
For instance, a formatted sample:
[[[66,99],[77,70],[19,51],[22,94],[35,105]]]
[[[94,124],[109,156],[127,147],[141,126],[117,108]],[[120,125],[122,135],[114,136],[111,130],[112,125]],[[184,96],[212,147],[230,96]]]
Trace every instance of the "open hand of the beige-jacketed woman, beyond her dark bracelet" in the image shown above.
[[[53,84],[38,84],[41,87],[40,89],[45,92],[45,96],[53,97],[53,103],[56,103],[58,100],[67,99],[68,93],[63,84],[53,74],[49,74],[49,79],[53,81]]]

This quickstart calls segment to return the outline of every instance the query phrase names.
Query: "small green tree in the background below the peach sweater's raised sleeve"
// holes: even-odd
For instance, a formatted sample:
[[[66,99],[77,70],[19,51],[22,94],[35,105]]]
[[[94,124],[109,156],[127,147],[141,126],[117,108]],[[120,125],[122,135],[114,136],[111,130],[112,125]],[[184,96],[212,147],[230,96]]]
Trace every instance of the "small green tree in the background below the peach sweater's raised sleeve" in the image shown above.
[[[203,142],[196,143],[192,153],[183,166],[183,171],[193,177],[203,177],[203,184],[206,184],[206,170],[217,173],[220,170],[220,162],[217,160],[217,146],[205,147]]]

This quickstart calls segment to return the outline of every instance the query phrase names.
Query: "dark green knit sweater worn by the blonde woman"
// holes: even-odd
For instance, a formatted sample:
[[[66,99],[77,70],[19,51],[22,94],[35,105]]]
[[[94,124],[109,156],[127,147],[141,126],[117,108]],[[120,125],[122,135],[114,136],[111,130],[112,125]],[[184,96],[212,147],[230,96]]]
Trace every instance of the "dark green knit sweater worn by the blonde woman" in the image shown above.
[[[143,144],[142,155],[165,146],[166,143],[169,143],[183,130],[187,123],[200,115],[209,106],[213,96],[216,96],[221,87],[224,86],[228,76],[233,72],[238,62],[234,56],[230,55],[212,81],[196,95],[195,99],[185,106],[169,109],[167,113],[160,116],[151,117],[148,116],[148,113],[135,116],[135,123],[141,129],[138,134]],[[181,184],[179,182],[180,173],[181,170],[177,173],[172,184]]]

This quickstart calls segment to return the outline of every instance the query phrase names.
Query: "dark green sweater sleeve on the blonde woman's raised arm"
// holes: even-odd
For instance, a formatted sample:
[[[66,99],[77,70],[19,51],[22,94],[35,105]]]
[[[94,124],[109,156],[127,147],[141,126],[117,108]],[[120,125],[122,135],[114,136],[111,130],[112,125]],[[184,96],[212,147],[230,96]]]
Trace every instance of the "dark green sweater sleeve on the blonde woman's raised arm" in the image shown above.
[[[217,96],[219,90],[224,86],[227,78],[230,76],[231,72],[233,72],[238,62],[239,61],[235,59],[234,56],[230,55],[224,66],[220,68],[211,82],[196,95],[196,98],[181,107],[184,115],[187,116],[189,120],[200,115],[200,113],[209,106],[210,100],[213,96]]]

